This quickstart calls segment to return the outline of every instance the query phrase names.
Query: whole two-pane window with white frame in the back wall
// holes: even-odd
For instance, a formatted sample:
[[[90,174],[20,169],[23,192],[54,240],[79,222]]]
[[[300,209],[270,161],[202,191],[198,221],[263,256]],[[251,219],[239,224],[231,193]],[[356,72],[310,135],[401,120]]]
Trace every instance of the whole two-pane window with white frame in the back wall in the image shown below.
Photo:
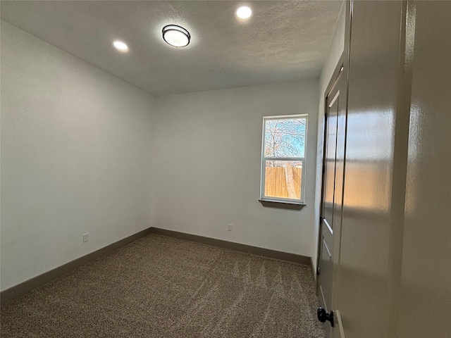
[[[307,115],[263,118],[261,201],[304,203]]]

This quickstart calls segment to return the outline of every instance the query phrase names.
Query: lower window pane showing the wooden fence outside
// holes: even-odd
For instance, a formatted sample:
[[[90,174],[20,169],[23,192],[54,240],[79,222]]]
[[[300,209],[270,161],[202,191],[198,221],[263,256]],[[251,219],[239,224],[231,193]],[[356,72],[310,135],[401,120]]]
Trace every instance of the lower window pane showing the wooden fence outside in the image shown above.
[[[300,199],[302,161],[266,161],[264,196]]]

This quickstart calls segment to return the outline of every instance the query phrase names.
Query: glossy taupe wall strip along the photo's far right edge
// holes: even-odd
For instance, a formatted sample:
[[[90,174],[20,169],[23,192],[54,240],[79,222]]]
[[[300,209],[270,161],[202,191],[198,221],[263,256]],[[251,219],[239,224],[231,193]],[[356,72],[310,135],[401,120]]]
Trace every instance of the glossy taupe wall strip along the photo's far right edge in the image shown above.
[[[415,13],[398,337],[450,337],[451,2]]]

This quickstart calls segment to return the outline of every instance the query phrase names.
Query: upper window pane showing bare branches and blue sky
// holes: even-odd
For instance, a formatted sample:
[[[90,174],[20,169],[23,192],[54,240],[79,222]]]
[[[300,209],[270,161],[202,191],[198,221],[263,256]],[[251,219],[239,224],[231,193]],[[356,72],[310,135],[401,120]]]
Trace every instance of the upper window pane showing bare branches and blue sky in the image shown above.
[[[265,157],[304,157],[306,118],[265,121]]]

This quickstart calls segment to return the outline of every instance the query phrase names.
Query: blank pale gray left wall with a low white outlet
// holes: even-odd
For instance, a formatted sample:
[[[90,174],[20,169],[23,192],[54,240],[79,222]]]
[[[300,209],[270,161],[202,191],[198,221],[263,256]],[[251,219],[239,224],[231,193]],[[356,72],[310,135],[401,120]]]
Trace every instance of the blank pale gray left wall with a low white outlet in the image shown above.
[[[153,111],[151,95],[1,22],[2,290],[151,225]]]

